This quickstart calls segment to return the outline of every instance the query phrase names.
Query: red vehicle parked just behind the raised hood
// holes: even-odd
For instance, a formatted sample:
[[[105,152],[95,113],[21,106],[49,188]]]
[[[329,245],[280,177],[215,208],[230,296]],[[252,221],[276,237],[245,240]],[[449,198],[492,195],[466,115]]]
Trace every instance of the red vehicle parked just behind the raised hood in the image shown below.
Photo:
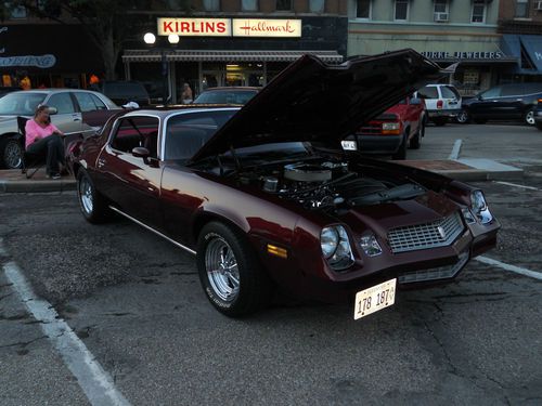
[[[422,99],[406,96],[356,132],[363,154],[391,155],[405,159],[406,148],[418,149],[427,117]]]

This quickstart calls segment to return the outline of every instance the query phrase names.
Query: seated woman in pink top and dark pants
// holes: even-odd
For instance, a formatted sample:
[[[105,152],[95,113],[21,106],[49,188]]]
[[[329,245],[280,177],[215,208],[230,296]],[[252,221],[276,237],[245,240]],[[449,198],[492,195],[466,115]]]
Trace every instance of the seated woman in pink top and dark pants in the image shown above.
[[[64,135],[49,118],[49,106],[40,105],[36,108],[34,119],[26,121],[26,152],[43,155],[47,160],[47,174],[51,179],[60,179],[60,163],[65,166]]]

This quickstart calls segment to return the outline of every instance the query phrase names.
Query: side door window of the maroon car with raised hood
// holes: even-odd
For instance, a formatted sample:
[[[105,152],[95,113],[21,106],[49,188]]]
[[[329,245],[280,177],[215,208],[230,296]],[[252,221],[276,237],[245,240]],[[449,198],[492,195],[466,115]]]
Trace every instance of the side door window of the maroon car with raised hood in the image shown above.
[[[158,128],[157,117],[134,116],[119,120],[111,140],[111,147],[126,154],[142,146],[149,149],[151,157],[158,157]]]

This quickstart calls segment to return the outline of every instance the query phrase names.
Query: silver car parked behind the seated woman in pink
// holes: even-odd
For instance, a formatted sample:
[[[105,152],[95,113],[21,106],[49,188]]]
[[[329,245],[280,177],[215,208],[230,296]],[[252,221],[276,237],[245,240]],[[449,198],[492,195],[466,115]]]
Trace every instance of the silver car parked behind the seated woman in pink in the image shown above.
[[[51,121],[67,135],[93,132],[82,121],[82,113],[120,109],[101,93],[80,89],[36,89],[12,92],[0,99],[0,168],[15,169],[22,163],[24,140],[17,116],[33,117],[39,104],[54,107]]]

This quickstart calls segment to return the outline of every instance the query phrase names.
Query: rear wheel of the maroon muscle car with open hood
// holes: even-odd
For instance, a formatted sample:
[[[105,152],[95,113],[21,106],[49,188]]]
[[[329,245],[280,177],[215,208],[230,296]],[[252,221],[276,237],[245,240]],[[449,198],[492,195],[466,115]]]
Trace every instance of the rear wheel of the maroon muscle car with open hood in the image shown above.
[[[111,219],[112,211],[107,200],[96,191],[85,169],[77,173],[77,198],[81,213],[89,223],[100,224]]]

